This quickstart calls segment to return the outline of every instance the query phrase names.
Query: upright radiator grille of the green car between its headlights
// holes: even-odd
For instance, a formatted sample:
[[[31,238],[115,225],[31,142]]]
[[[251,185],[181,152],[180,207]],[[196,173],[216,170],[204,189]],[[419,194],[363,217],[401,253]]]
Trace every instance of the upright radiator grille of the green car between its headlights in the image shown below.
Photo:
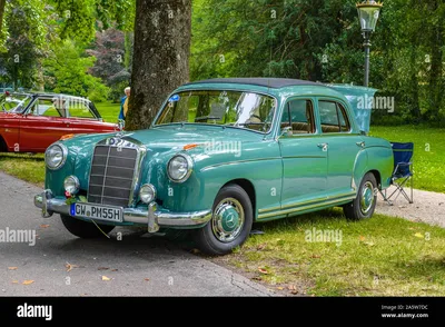
[[[128,207],[137,160],[136,149],[96,146],[91,162],[88,201]]]

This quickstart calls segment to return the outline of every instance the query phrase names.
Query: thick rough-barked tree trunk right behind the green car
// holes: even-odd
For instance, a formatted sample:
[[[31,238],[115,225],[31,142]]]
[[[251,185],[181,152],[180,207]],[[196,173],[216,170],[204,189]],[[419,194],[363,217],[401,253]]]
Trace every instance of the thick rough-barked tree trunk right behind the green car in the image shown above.
[[[148,128],[166,97],[189,79],[191,0],[137,0],[126,129]]]

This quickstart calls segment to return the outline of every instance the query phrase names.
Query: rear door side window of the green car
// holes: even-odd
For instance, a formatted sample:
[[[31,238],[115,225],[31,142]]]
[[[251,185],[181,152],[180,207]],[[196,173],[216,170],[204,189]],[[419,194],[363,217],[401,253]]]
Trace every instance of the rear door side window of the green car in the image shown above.
[[[346,110],[343,108],[343,106],[332,101],[319,101],[318,109],[323,132],[329,133],[349,131],[350,125],[347,119]]]

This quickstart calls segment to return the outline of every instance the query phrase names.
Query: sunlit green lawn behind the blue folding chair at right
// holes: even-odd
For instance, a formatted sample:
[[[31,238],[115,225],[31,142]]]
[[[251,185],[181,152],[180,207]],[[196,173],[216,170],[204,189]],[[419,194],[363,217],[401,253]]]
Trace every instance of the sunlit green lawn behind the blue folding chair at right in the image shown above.
[[[370,135],[389,141],[414,142],[414,188],[445,192],[445,129],[375,126]]]

